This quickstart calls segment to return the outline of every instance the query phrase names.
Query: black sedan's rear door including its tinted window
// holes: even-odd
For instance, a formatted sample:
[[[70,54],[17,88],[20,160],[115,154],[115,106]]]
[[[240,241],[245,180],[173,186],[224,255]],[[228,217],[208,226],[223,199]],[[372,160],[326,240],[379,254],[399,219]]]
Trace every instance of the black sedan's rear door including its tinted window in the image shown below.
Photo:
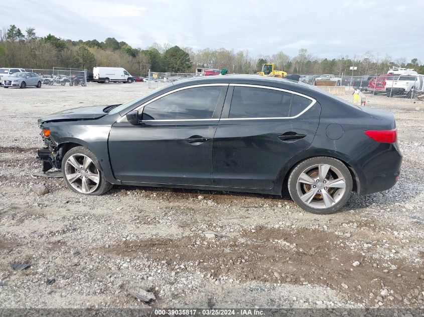
[[[272,188],[282,166],[310,147],[320,113],[302,94],[231,84],[213,142],[214,185]]]

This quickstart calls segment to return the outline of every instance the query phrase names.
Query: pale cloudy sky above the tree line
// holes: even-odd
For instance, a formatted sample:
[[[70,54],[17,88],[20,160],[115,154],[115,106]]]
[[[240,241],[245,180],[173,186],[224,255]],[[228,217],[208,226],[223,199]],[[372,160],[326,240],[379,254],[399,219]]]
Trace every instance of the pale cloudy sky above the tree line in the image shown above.
[[[74,41],[114,37],[134,48],[170,43],[252,57],[305,48],[318,58],[371,51],[424,63],[422,12],[421,0],[21,0],[2,1],[0,28]]]

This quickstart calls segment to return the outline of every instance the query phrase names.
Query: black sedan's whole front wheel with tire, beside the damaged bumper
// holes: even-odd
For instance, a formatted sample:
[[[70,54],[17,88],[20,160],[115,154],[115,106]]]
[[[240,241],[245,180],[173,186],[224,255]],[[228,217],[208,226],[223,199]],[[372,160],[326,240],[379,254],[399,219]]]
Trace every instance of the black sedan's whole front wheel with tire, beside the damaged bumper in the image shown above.
[[[100,169],[99,161],[89,149],[77,146],[66,152],[62,160],[66,185],[84,195],[102,195],[112,188]]]

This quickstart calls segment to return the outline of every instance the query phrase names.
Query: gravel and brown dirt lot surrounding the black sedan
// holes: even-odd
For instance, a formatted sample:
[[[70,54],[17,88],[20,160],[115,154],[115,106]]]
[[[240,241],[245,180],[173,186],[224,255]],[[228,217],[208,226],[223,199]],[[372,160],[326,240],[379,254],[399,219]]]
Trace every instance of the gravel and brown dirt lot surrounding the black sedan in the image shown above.
[[[151,307],[423,307],[422,102],[367,98],[395,114],[402,173],[334,215],[255,194],[115,186],[82,196],[31,176],[41,170],[39,117],[148,91],[0,89],[0,307],[148,306],[128,287],[153,291]],[[50,193],[37,196],[38,183]]]

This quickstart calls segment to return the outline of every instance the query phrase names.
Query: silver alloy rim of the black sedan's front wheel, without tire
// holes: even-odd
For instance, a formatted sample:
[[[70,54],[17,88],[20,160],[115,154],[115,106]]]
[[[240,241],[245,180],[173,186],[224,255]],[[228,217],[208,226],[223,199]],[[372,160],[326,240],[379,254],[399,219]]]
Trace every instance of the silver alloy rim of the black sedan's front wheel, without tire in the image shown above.
[[[82,194],[92,193],[100,183],[100,172],[84,154],[73,154],[65,163],[65,176],[69,184]]]

